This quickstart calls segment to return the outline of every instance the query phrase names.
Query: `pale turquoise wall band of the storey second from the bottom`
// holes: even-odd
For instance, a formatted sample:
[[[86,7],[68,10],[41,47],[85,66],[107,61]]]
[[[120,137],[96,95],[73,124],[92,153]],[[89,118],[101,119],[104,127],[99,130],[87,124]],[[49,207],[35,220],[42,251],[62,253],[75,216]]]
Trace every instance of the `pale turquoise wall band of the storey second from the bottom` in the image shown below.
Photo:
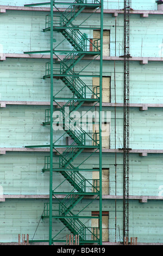
[[[44,157],[48,153],[7,153],[1,155],[1,183],[4,194],[36,194],[49,193],[49,174],[42,173]],[[74,164],[82,162],[87,153],[83,153]],[[97,154],[96,154],[97,156]],[[56,159],[56,161],[58,161]],[[93,161],[93,164],[91,163]],[[103,154],[103,168],[109,168],[109,194],[115,194],[115,154]],[[122,195],[123,156],[117,154],[117,195]],[[163,177],[161,175],[162,160],[159,154],[130,155],[130,196],[162,196]],[[91,157],[82,165],[83,168],[97,168],[98,160]],[[91,172],[82,172],[87,179],[92,179]],[[64,178],[60,173],[54,174],[54,180],[61,184]],[[64,182],[57,191],[71,191],[72,187]]]

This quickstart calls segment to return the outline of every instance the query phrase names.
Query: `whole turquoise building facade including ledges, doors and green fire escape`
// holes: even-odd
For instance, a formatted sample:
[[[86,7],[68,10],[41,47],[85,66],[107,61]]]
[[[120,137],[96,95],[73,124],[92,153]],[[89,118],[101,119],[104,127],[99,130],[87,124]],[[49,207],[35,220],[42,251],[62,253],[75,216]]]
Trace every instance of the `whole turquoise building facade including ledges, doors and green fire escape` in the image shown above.
[[[55,1],[53,10],[43,2],[0,6],[0,241],[28,234],[30,243],[65,244],[71,234],[121,245],[124,2]],[[162,7],[132,0],[128,8],[128,239],[143,245],[163,243]],[[72,129],[65,107],[79,114]]]

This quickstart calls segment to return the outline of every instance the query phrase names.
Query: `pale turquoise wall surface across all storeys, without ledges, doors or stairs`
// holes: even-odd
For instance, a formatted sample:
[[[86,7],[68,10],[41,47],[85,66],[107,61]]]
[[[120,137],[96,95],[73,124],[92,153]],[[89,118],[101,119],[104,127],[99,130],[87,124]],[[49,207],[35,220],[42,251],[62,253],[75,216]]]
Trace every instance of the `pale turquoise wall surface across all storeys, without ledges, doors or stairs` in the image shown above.
[[[33,1],[33,3],[37,1]],[[23,6],[27,1],[16,1],[14,5]],[[11,1],[1,1],[3,5],[13,5]],[[104,9],[121,9],[122,1],[104,1]],[[135,10],[156,10],[157,5],[151,1],[131,1],[131,8]],[[49,32],[43,33],[45,27],[45,15],[41,11],[7,10],[0,14],[0,53],[23,54],[24,51],[49,50]],[[76,22],[81,23],[87,14],[80,14]],[[117,16],[117,44],[116,56],[122,54],[123,48],[123,21],[122,14]],[[99,14],[92,24],[96,25]],[[89,22],[86,25],[90,25]],[[131,15],[130,23],[130,50],[132,57],[162,57],[162,15],[149,15],[142,18],[140,14]],[[110,54],[115,56],[115,17],[112,14],[104,14],[104,29],[110,30]],[[156,32],[155,32],[156,31]],[[92,32],[86,30],[87,36]],[[153,36],[155,34],[155,36]],[[54,46],[62,36],[56,33]],[[60,45],[60,49],[64,44]],[[71,46],[66,44],[66,49]],[[61,53],[60,53],[61,54]],[[12,56],[13,57],[13,56]],[[49,101],[49,80],[43,80],[45,64],[48,60],[41,58],[7,58],[0,62],[1,101],[34,101],[33,105],[7,105],[0,109],[0,148],[10,148],[5,155],[0,155],[0,188],[6,197],[5,202],[0,203],[0,242],[17,242],[18,234],[33,235],[40,221],[43,211],[43,203],[47,202],[49,193],[49,173],[42,173],[47,152],[19,152],[26,145],[49,144],[49,127],[41,124],[45,121],[46,105],[39,106],[36,103]],[[76,69],[81,70],[87,60],[82,60]],[[91,74],[98,71],[98,60],[95,60],[87,71]],[[116,102],[123,102],[123,62],[116,60],[116,77],[114,77],[114,62],[103,61],[103,76],[111,77],[111,103],[115,102],[114,78],[116,78]],[[92,80],[85,82],[92,85]],[[61,81],[54,80],[54,93],[64,87]],[[64,89],[62,96],[71,96],[68,89]],[[130,103],[162,103],[162,62],[150,61],[146,65],[139,61],[130,62]],[[83,110],[89,109],[83,107]],[[105,107],[105,111],[111,112],[110,123],[110,149],[115,149],[115,109]],[[58,139],[61,133],[55,133],[54,139]],[[60,144],[65,143],[65,137]],[[162,108],[151,107],[147,111],[140,111],[137,107],[130,108],[130,148],[131,149],[162,149]],[[123,147],[123,109],[116,108],[116,148]],[[15,150],[17,148],[17,151]],[[13,149],[13,151],[12,151]],[[2,150],[2,151],[3,151]],[[82,153],[74,164],[79,164],[86,159],[88,153]],[[92,155],[83,168],[97,168],[97,153]],[[130,196],[141,198],[155,197],[147,203],[140,203],[138,199],[130,199],[130,236],[138,237],[138,242],[163,242],[162,241],[162,200],[163,176],[162,154],[149,154],[140,156],[130,154]],[[55,161],[55,160],[54,160]],[[57,161],[57,158],[56,158]],[[117,196],[123,194],[123,155],[117,153]],[[109,168],[109,195],[115,196],[115,153],[103,153],[103,168]],[[92,172],[84,172],[87,179],[92,179]],[[64,178],[60,173],[54,174],[54,181],[59,185]],[[64,182],[58,191],[71,191],[72,187]],[[18,197],[37,196],[37,199],[19,199]],[[15,197],[15,198],[14,198]],[[109,197],[108,197],[109,198]],[[55,201],[54,201],[55,202]],[[85,208],[91,199],[83,199],[74,212]],[[91,211],[98,211],[98,204],[94,201],[83,212],[84,215]],[[109,241],[115,241],[115,200],[103,199],[103,211],[109,211]],[[117,199],[117,241],[122,241],[123,201]],[[64,226],[58,220],[54,220],[54,234],[57,234]],[[120,236],[119,236],[120,228]],[[60,237],[68,233],[64,229]],[[48,222],[41,220],[34,239],[48,239]]]

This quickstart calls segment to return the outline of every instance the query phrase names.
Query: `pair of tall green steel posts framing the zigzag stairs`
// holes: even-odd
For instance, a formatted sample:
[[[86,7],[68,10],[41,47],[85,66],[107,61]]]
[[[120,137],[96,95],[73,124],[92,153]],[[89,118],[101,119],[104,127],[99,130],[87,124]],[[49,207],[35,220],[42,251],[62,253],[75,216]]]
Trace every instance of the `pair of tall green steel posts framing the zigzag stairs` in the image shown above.
[[[51,17],[53,17],[53,8],[55,5],[55,1],[51,0],[49,3],[40,3],[40,4],[29,4],[25,6],[38,6],[38,5],[47,5],[50,4],[51,6]],[[58,4],[58,3],[57,3]],[[70,4],[70,3],[65,3],[65,4]],[[77,5],[77,4],[76,4]],[[83,4],[79,4],[83,5]],[[89,4],[85,4],[89,6]],[[101,0],[101,4],[98,4],[101,8],[101,52],[100,52],[100,69],[99,69],[99,245],[102,245],[102,73],[103,73],[103,0]],[[51,70],[53,70],[53,55],[54,55],[54,49],[53,49],[53,19],[51,19],[51,25],[50,25],[50,32],[51,32],[51,48],[49,52],[51,54]],[[40,51],[39,51],[40,52]],[[31,52],[31,53],[36,53],[36,52]],[[85,75],[84,75],[85,76]],[[50,168],[49,168],[49,240],[48,243],[49,245],[53,244],[53,237],[52,237],[52,221],[54,216],[52,215],[52,203],[53,203],[53,150],[55,148],[54,143],[53,143],[53,102],[54,102],[54,96],[53,96],[53,88],[54,88],[54,74],[51,72],[50,75],[50,81],[51,81],[51,105],[50,105],[50,144],[46,147],[50,148]],[[93,77],[93,76],[92,76]],[[95,76],[96,77],[96,76]],[[40,146],[27,146],[30,148],[35,148],[35,147],[45,147],[45,145],[40,145]],[[90,218],[92,218],[90,216]]]

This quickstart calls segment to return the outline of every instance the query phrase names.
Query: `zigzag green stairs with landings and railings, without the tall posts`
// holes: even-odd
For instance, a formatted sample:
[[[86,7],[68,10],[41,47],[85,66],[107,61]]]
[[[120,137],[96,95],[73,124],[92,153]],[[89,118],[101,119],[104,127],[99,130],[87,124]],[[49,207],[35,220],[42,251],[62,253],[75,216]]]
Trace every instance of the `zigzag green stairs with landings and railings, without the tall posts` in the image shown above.
[[[98,147],[99,142],[98,140],[96,141],[94,137],[92,137],[92,134],[90,135],[88,132],[84,131],[80,125],[76,124],[76,126],[74,126],[72,124],[73,118],[70,117],[70,113],[77,111],[77,109],[79,109],[86,100],[95,99],[95,101],[97,101],[99,97],[98,92],[92,92],[89,86],[87,86],[80,79],[80,72],[74,71],[74,67],[80,62],[80,60],[83,59],[86,54],[91,54],[92,56],[93,54],[99,54],[100,44],[98,44],[98,41],[100,40],[96,40],[96,43],[95,41],[92,42],[92,40],[88,39],[82,32],[79,31],[80,27],[77,28],[73,25],[72,22],[80,13],[82,13],[85,8],[95,9],[100,6],[100,0],[92,0],[91,4],[88,4],[87,0],[76,0],[73,3],[70,3],[70,6],[64,11],[64,13],[59,11],[57,22],[54,17],[51,17],[52,12],[50,15],[47,15],[48,21],[46,20],[46,28],[44,29],[44,31],[50,31],[52,29],[51,19],[54,19],[53,30],[60,32],[73,47],[71,52],[67,51],[70,53],[68,53],[64,59],[60,59],[60,61],[54,62],[55,65],[53,70],[51,69],[51,63],[47,63],[48,68],[46,65],[46,75],[44,76],[44,78],[51,77],[53,74],[54,78],[59,77],[59,79],[62,80],[66,87],[69,88],[73,93],[73,99],[69,99],[62,107],[57,102],[57,97],[53,96],[53,101],[57,102],[59,106],[58,109],[62,113],[63,129],[73,140],[71,145],[68,145],[68,147],[66,145],[66,149],[62,153],[59,153],[59,151],[55,149],[59,154],[59,162],[57,162],[57,166],[59,166],[59,168],[56,170],[53,168],[53,170],[60,172],[60,174],[64,176],[65,180],[69,182],[73,189],[71,192],[66,192],[66,197],[64,199],[59,199],[56,195],[60,192],[56,192],[56,190],[62,184],[62,182],[58,187],[55,187],[55,189],[52,191],[52,194],[53,197],[56,198],[59,202],[57,203],[59,207],[59,214],[58,216],[54,216],[53,209],[50,209],[50,207],[48,208],[48,205],[52,206],[53,204],[51,201],[45,204],[46,207],[43,211],[42,217],[49,218],[52,214],[53,217],[59,218],[59,220],[65,225],[65,227],[67,227],[68,230],[70,230],[73,235],[79,235],[80,243],[83,244],[99,241],[98,228],[89,228],[82,221],[80,221],[81,218],[85,217],[79,216],[83,209],[75,214],[74,206],[76,206],[86,195],[96,195],[97,197],[99,196],[99,180],[96,180],[95,182],[95,180],[90,181],[86,179],[78,170],[82,163],[80,163],[78,167],[75,167],[73,161],[80,155],[80,153],[83,152],[87,145],[91,145],[91,147],[92,145],[95,145],[95,147]],[[55,54],[55,49],[51,47],[51,50],[54,50],[53,54]],[[64,52],[64,49],[62,52]],[[58,65],[59,68],[55,68]],[[57,70],[56,74],[55,70]],[[69,107],[70,110],[68,122],[65,115],[66,107]],[[43,125],[51,124],[52,120],[50,119],[51,115],[49,115],[48,109],[48,114],[46,115]],[[55,148],[55,142],[53,143],[53,147]],[[45,161],[45,167],[47,164],[47,168],[43,169],[44,172],[50,170],[49,166],[52,160],[51,157],[52,156],[47,157],[48,161],[50,159],[50,163]],[[56,206],[55,203],[54,206]],[[56,212],[56,210],[54,211]],[[86,218],[90,219],[91,216],[86,216]],[[89,237],[89,239],[87,237]]]

